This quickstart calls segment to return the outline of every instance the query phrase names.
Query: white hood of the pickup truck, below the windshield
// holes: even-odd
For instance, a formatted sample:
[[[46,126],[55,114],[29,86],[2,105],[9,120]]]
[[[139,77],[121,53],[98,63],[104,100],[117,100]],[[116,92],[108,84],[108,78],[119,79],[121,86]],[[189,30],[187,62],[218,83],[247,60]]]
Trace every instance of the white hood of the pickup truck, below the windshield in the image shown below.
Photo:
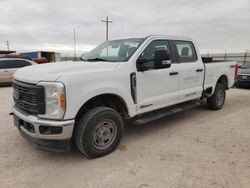
[[[56,81],[66,74],[79,74],[114,70],[120,63],[67,61],[47,63],[21,68],[14,74],[14,79],[38,83],[39,81]]]

